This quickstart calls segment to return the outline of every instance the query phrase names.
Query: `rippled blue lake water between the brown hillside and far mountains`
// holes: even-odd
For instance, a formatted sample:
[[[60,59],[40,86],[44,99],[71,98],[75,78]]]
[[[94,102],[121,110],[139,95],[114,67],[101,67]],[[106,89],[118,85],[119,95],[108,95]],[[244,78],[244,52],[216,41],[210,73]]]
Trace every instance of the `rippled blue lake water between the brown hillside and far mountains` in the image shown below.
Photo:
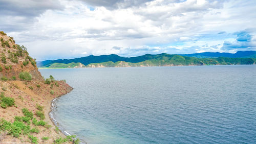
[[[54,117],[88,143],[256,143],[256,65],[40,72],[74,88]]]

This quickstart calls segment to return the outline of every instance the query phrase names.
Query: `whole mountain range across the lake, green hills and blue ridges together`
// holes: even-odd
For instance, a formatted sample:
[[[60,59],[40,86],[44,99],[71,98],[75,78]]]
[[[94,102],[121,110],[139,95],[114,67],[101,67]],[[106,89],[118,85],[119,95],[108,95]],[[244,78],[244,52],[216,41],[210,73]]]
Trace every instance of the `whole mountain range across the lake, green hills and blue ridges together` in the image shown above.
[[[239,51],[231,53],[196,53],[196,54],[146,54],[138,57],[120,57],[115,54],[74,58],[46,60],[37,63],[45,68],[73,67],[129,67],[129,66],[172,66],[172,65],[224,65],[224,64],[254,64],[256,51]]]

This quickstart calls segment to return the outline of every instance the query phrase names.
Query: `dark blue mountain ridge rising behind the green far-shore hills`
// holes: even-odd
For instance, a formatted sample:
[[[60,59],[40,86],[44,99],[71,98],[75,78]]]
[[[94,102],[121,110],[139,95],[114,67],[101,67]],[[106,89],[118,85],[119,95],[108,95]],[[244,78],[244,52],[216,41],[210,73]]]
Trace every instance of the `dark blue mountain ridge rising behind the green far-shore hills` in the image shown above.
[[[169,55],[169,54],[158,54],[158,55],[150,55],[146,54],[143,56],[138,57],[120,57],[115,54],[111,55],[101,55],[101,56],[94,56],[90,55],[87,57],[81,57],[81,58],[74,58],[74,59],[58,59],[58,60],[46,60],[42,62],[38,62],[38,67],[51,67],[51,68],[58,68],[57,66],[61,65],[61,68],[70,67],[70,63],[73,63],[74,67],[79,67],[79,65],[84,65],[82,67],[86,67],[87,65],[92,67],[92,64],[96,63],[105,63],[105,62],[126,62],[126,63],[140,63],[144,61],[156,61],[156,60],[164,60],[168,61],[173,58],[173,56],[176,55]],[[256,58],[256,51],[239,51],[235,54],[230,53],[197,53],[197,54],[182,54],[179,56],[184,57],[196,57],[196,58],[218,58],[218,57],[227,57],[227,58]],[[56,64],[58,63],[58,64]],[[67,64],[67,65],[65,65]],[[91,64],[91,65],[89,65]],[[123,64],[123,63],[122,63]],[[182,62],[181,62],[182,64]],[[69,65],[69,66],[68,66]],[[125,64],[127,65],[127,64]],[[129,65],[129,64],[128,64]],[[134,64],[130,64],[134,65]],[[172,64],[171,64],[172,65]],[[112,64],[113,66],[113,64]],[[142,65],[143,66],[143,65]]]

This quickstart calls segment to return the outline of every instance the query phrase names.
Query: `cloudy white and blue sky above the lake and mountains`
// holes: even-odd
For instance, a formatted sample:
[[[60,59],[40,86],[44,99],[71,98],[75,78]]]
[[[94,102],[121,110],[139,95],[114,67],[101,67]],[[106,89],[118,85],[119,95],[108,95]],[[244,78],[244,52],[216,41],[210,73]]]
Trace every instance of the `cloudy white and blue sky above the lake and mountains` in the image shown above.
[[[256,1],[0,0],[0,31],[37,61],[256,51]]]

